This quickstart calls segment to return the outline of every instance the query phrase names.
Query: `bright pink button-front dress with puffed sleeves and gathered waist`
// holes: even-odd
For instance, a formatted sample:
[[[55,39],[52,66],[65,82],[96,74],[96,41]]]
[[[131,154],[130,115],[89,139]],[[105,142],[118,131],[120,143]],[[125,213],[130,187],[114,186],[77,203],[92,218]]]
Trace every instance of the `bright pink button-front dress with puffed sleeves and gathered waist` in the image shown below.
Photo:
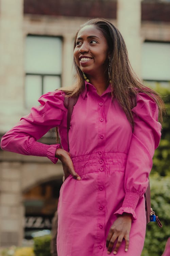
[[[2,138],[1,147],[24,155],[47,156],[56,163],[59,144],[36,142],[58,126],[61,145],[67,150],[67,109],[61,90],[40,97],[40,105]],[[99,96],[85,82],[74,106],[69,131],[70,154],[81,181],[70,175],[62,184],[58,202],[58,256],[106,256],[106,238],[117,214],[133,215],[129,251],[125,242],[118,256],[140,256],[145,240],[146,215],[143,194],[148,185],[152,157],[161,125],[157,104],[138,93],[132,109],[135,128],[117,100],[111,100],[110,85]]]

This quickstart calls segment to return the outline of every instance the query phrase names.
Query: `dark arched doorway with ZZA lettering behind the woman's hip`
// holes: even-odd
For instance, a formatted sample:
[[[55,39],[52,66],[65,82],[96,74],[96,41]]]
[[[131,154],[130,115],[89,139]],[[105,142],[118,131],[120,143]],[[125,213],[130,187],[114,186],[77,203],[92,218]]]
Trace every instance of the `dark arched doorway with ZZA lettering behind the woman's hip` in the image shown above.
[[[22,194],[25,208],[25,239],[50,233],[62,183],[62,176],[60,176],[57,179],[36,184]]]

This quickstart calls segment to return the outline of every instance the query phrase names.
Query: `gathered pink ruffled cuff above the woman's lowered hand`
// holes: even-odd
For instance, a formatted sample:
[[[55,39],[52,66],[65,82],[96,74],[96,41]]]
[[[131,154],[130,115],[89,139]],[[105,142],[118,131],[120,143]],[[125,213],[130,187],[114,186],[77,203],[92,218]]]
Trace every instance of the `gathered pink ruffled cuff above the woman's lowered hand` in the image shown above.
[[[135,209],[138,201],[139,201],[139,195],[137,193],[130,192],[130,191],[126,192],[122,207],[119,208],[119,210],[114,214],[117,216],[119,214],[120,215],[123,214],[124,212],[130,213],[132,214],[132,217],[133,217],[132,220],[134,221],[135,219],[137,219]]]

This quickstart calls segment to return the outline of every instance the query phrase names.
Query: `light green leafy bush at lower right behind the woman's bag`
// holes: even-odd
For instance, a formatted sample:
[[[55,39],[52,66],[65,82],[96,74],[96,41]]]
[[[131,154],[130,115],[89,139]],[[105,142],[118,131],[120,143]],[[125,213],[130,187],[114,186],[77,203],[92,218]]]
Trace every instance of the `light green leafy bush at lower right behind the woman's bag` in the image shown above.
[[[156,222],[147,225],[145,246],[141,256],[162,255],[165,243],[170,237],[170,177],[155,174],[150,177],[151,207],[163,224],[159,228]]]

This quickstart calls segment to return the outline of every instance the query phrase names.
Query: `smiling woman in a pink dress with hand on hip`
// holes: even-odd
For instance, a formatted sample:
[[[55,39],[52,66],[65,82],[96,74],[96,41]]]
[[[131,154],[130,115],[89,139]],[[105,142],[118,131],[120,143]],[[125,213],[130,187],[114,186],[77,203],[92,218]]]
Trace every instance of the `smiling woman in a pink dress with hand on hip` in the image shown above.
[[[74,65],[74,88],[41,96],[40,106],[3,136],[1,147],[62,161],[58,256],[139,256],[146,232],[143,194],[161,136],[163,101],[134,75],[120,32],[105,19],[80,27]],[[79,96],[69,152],[66,95]],[[37,142],[52,127],[62,147]]]

